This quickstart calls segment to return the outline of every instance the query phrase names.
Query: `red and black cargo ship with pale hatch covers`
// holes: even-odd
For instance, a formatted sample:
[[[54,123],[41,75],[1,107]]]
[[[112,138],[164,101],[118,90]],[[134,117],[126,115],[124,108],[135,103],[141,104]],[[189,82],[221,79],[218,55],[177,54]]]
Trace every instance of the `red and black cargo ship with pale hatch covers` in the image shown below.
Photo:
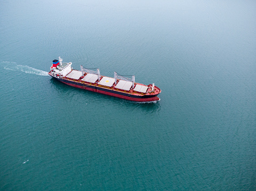
[[[114,72],[114,78],[102,76],[99,69],[73,70],[72,62],[63,63],[53,60],[48,73],[51,77],[76,88],[90,90],[101,94],[128,99],[136,102],[158,101],[161,89],[150,84],[148,86],[135,82],[135,76],[128,78]]]

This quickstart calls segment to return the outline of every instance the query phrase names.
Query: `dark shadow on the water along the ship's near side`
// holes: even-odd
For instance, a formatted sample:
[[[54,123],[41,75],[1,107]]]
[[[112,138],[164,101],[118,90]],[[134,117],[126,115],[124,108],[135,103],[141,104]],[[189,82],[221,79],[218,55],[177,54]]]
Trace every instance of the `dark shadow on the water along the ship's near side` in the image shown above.
[[[145,110],[146,112],[156,112],[160,110],[160,100],[151,102],[134,102],[127,99],[121,99],[118,97],[99,94],[96,92],[91,92],[89,90],[68,86],[54,78],[50,79],[50,83],[52,85],[52,88],[60,93],[61,96],[70,96],[71,93],[79,93],[80,95],[84,96],[84,98],[86,99],[85,101],[87,102],[102,102],[102,104],[104,104],[105,102],[107,104],[117,105],[125,108],[129,107],[129,109],[131,106],[133,106],[134,109],[141,109]]]

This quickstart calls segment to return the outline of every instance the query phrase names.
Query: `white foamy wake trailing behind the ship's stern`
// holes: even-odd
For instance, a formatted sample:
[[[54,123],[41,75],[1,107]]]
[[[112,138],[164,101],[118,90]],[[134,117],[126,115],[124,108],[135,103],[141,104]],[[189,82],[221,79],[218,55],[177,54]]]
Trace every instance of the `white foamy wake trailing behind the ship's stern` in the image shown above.
[[[6,70],[13,70],[13,71],[21,71],[25,73],[32,73],[36,74],[38,76],[48,76],[48,72],[45,72],[43,70],[38,70],[32,67],[28,67],[27,65],[17,65],[15,62],[2,62],[5,63],[4,69]]]

